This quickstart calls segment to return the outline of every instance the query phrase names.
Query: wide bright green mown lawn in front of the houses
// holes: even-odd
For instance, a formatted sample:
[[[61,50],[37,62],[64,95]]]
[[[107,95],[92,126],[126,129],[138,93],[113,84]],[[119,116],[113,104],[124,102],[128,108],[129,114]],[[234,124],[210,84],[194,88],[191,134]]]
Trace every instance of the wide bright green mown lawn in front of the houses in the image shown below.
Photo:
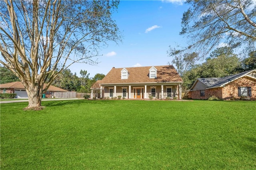
[[[1,104],[1,170],[256,169],[255,101]]]

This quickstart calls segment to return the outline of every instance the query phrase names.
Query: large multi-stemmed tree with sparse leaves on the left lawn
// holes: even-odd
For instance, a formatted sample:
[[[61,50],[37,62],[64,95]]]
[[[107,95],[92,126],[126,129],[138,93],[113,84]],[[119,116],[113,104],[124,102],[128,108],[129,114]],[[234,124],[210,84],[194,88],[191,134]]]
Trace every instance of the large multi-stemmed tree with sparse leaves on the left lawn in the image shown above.
[[[0,1],[0,63],[23,83],[27,109],[41,107],[42,93],[72,63],[95,64],[100,47],[120,40],[111,18],[118,4],[107,0]]]

